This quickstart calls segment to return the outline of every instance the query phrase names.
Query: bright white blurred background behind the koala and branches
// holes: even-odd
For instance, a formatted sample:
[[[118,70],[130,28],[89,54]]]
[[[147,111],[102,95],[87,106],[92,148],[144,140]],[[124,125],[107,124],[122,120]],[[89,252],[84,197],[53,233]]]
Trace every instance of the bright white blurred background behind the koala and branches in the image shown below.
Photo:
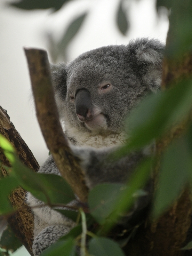
[[[57,63],[138,37],[165,43],[168,10],[156,10],[155,0],[55,0],[57,11],[27,8],[32,0],[21,1],[24,7],[15,4],[32,10],[18,8],[12,2],[0,0],[0,105],[41,165],[48,149],[36,121],[23,46],[46,49],[50,62]],[[29,254],[22,246],[13,255]]]

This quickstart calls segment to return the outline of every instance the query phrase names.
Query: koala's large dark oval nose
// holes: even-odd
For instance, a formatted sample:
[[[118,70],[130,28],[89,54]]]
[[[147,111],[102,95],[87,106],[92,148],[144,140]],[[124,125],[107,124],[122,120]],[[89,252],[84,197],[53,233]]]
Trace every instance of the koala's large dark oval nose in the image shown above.
[[[75,95],[75,111],[80,121],[86,121],[92,117],[92,100],[87,89],[80,89]]]

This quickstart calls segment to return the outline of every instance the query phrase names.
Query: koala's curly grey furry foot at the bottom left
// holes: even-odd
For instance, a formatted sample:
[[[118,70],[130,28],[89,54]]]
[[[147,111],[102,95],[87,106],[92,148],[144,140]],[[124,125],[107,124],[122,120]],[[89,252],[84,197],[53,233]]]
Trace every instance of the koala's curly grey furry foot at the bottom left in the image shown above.
[[[70,228],[63,225],[49,226],[44,228],[33,241],[33,254],[39,256],[51,244],[55,243],[61,236],[69,232]]]

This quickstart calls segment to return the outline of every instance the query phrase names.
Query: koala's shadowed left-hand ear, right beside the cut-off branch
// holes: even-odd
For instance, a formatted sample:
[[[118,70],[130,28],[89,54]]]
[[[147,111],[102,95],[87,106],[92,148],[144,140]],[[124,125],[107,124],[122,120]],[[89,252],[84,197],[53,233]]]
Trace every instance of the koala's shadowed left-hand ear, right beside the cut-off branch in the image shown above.
[[[56,98],[65,100],[67,95],[67,66],[65,63],[59,65],[51,64],[52,83]]]

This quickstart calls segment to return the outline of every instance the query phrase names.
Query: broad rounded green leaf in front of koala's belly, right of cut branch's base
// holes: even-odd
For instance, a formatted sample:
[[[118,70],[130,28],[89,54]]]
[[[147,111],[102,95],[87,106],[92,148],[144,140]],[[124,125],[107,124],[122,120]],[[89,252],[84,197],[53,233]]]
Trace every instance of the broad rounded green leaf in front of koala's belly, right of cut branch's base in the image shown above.
[[[108,215],[114,210],[119,195],[126,186],[117,183],[103,183],[96,185],[88,196],[91,215],[103,224]]]

